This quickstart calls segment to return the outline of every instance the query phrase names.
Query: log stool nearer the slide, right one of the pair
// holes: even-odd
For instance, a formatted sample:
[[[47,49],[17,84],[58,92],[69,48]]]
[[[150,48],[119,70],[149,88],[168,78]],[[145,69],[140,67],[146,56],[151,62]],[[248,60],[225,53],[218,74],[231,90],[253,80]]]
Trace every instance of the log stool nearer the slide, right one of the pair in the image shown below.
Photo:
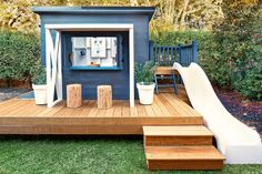
[[[98,85],[98,109],[109,109],[112,106],[112,86]]]

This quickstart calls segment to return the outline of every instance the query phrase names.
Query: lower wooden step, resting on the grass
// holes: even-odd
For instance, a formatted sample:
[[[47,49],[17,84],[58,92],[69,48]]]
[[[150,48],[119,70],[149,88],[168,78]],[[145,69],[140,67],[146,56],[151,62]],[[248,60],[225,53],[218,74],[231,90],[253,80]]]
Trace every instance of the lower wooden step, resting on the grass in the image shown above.
[[[210,146],[147,146],[149,170],[222,170],[225,157]]]

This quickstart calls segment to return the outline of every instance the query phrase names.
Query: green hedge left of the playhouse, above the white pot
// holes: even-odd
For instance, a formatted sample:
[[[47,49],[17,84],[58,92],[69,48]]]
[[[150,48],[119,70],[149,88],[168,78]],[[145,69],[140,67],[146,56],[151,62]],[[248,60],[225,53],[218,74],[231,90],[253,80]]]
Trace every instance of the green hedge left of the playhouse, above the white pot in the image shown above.
[[[30,80],[40,64],[39,35],[0,31],[0,79]]]

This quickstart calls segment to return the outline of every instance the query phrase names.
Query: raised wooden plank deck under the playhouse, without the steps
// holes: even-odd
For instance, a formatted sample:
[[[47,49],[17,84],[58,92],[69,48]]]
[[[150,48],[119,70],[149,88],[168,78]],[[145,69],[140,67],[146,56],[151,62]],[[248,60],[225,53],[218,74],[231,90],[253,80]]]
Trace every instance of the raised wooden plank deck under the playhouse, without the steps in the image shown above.
[[[185,101],[185,102],[184,102]],[[180,95],[160,93],[153,105],[130,109],[129,101],[113,101],[113,108],[97,109],[84,101],[78,109],[61,102],[52,109],[33,100],[12,99],[0,103],[0,134],[141,134],[144,125],[202,125],[203,119]]]

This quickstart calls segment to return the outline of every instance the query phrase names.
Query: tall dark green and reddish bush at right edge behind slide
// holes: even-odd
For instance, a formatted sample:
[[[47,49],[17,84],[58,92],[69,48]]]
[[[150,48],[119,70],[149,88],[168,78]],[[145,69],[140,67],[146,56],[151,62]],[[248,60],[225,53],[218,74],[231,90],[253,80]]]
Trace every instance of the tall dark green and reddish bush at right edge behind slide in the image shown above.
[[[226,1],[223,9],[225,19],[216,27],[216,42],[222,50],[216,63],[224,65],[230,86],[262,100],[262,6]]]

